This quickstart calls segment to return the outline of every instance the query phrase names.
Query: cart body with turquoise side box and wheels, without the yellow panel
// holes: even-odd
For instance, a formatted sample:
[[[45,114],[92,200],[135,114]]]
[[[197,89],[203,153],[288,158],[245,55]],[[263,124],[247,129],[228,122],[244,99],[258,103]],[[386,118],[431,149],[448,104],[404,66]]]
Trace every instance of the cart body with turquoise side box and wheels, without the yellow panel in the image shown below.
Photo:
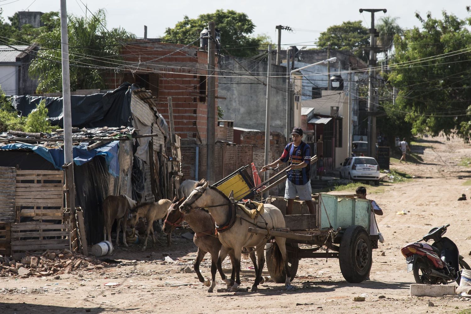
[[[268,198],[268,202],[270,198]],[[371,202],[353,195],[331,195],[319,193],[313,197],[315,214],[285,215],[289,231],[269,231],[272,236],[286,238],[291,277],[294,278],[301,258],[338,258],[340,270],[348,282],[358,283],[368,276],[372,264],[370,235]],[[252,233],[268,231],[249,228]],[[312,245],[300,249],[298,244]],[[267,257],[274,243],[267,244]],[[323,248],[327,248],[327,250]],[[273,266],[267,258],[267,268],[273,273]],[[272,276],[275,282],[284,282],[283,276]]]

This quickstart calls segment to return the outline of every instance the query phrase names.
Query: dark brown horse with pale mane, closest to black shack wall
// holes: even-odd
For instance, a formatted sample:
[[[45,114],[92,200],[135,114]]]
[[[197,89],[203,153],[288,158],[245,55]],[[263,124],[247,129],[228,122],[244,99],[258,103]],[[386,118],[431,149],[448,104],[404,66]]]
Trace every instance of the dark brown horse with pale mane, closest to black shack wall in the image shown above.
[[[116,246],[118,246],[119,231],[122,228],[122,242],[124,246],[128,246],[126,242],[126,225],[128,223],[129,211],[131,208],[137,205],[136,201],[131,200],[128,196],[121,195],[108,195],[103,201],[103,238],[106,241],[106,235],[108,235],[108,241],[111,243],[111,227],[113,226],[114,220],[118,219],[116,224]]]

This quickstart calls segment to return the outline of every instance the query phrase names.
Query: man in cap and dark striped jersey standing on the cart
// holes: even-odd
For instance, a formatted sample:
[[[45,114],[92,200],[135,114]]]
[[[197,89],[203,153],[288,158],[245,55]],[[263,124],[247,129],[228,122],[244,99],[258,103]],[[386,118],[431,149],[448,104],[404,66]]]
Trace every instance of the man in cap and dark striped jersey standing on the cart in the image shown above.
[[[294,198],[299,196],[301,201],[306,201],[309,213],[314,214],[314,203],[312,202],[312,188],[309,177],[311,168],[311,147],[302,141],[302,129],[294,128],[291,132],[292,143],[284,147],[283,154],[279,159],[262,167],[266,171],[268,167],[274,168],[284,162],[291,165],[286,173],[286,188],[284,198],[288,200],[286,215],[292,215]]]

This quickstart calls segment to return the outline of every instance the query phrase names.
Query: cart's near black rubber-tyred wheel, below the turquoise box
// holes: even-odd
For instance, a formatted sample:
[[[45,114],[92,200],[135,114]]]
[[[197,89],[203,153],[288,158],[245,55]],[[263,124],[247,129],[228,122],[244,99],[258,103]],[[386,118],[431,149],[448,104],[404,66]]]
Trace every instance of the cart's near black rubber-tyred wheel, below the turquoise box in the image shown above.
[[[371,241],[361,225],[349,226],[342,235],[339,250],[340,271],[346,281],[360,283],[373,263]]]

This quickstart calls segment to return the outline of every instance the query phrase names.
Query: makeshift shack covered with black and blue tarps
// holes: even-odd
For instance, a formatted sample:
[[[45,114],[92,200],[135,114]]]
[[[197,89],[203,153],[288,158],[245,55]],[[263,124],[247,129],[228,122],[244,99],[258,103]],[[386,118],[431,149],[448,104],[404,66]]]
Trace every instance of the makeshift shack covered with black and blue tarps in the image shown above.
[[[62,97],[17,96],[12,104],[26,116],[43,99],[51,124],[62,127]],[[71,101],[75,205],[83,211],[87,240],[93,244],[103,240],[101,203],[107,195],[126,194],[142,202],[171,196],[165,155],[168,127],[150,92],[136,85],[125,83],[107,93],[73,95]],[[0,134],[0,167],[62,169],[63,130],[34,137]],[[11,216],[16,217],[11,223],[28,220]]]

